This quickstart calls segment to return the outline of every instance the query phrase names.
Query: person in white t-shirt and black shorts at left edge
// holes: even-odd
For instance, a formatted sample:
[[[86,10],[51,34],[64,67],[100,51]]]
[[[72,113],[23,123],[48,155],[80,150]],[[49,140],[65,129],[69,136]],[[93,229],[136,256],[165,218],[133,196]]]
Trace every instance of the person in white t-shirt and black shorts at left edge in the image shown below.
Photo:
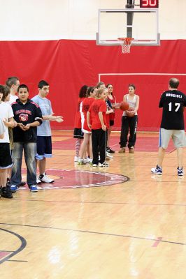
[[[0,119],[3,121],[4,135],[0,139],[0,195],[8,199],[12,198],[10,187],[6,186],[8,168],[12,167],[13,162],[10,155],[10,140],[8,127],[14,127],[12,107],[2,102],[4,86],[0,85]],[[0,133],[1,134],[1,133]]]

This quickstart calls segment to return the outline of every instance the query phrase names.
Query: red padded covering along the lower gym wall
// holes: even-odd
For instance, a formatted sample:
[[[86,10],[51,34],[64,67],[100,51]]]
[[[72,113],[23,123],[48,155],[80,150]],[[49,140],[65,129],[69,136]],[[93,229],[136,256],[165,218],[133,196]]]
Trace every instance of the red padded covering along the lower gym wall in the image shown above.
[[[47,80],[53,111],[64,116],[63,123],[52,123],[52,127],[72,130],[80,86],[96,84],[100,73],[129,73],[103,75],[101,80],[113,84],[117,101],[127,93],[128,84],[134,83],[141,98],[138,130],[158,130],[162,115],[159,97],[168,89],[172,73],[186,73],[185,50],[186,40],[162,40],[160,47],[131,47],[130,54],[121,54],[119,46],[96,46],[94,40],[0,42],[0,82],[15,75],[29,86],[32,97],[38,92],[38,81]],[[186,75],[178,78],[179,89],[186,92]],[[117,111],[117,130],[121,115]]]

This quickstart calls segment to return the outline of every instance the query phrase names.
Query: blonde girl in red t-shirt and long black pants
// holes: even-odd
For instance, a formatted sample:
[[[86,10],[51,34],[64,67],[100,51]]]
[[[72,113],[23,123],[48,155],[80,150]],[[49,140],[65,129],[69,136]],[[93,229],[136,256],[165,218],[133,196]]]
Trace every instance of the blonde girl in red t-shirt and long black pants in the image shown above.
[[[106,158],[106,89],[98,89],[96,100],[87,112],[87,126],[92,128],[93,167],[108,167]],[[90,118],[92,124],[90,124]],[[100,160],[99,160],[100,155]]]

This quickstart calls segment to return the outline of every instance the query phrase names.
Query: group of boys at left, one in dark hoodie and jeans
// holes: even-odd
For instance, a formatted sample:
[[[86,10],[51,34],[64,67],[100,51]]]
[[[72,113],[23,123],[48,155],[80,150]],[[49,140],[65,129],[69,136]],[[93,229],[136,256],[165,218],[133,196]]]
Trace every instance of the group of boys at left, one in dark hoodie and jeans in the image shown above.
[[[46,158],[52,157],[50,121],[62,122],[52,112],[49,84],[38,82],[38,95],[29,99],[29,88],[17,77],[0,85],[0,197],[12,198],[22,181],[22,156],[27,165],[27,185],[37,192],[39,183],[52,183],[45,173]],[[36,176],[36,169],[39,176]]]

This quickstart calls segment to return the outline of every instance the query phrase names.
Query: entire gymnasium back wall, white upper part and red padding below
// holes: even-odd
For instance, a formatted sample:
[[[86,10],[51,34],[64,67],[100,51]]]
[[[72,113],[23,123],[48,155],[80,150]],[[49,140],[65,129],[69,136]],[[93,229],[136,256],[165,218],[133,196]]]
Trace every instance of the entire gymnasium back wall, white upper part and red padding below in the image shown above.
[[[0,83],[16,75],[29,86],[32,97],[38,81],[47,80],[53,110],[64,116],[64,123],[52,126],[67,130],[73,129],[80,86],[96,84],[102,74],[101,80],[113,84],[120,101],[128,84],[134,83],[141,98],[138,130],[158,130],[159,98],[169,78],[177,76],[180,90],[186,92],[185,0],[179,0],[179,6],[177,0],[170,0],[169,7],[159,0],[160,47],[132,47],[125,55],[118,46],[96,46],[99,8],[124,8],[124,1],[3,1]],[[118,110],[117,130],[121,115]]]

